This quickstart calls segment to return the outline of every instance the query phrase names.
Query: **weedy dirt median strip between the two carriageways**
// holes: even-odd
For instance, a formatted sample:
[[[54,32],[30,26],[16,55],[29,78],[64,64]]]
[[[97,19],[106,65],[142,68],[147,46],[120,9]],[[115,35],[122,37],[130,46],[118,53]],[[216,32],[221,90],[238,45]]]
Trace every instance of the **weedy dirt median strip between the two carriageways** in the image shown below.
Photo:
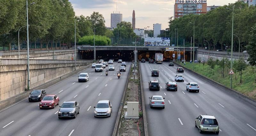
[[[138,67],[136,68],[138,70]],[[133,70],[133,68],[131,69]],[[133,72],[130,73],[130,78],[128,87],[126,90],[126,95],[124,99],[124,105],[127,104],[127,102],[137,102],[137,89],[138,89],[138,100],[139,100],[139,116],[140,119],[124,119],[125,111],[127,111],[127,108],[123,108],[122,111],[122,117],[121,117],[121,125],[119,128],[119,136],[139,136],[138,126],[137,123],[139,121],[139,129],[140,129],[140,135],[144,136],[144,126],[143,126],[143,117],[142,117],[142,104],[141,104],[141,92],[140,92],[140,78],[139,73],[135,71],[135,78],[133,79]],[[140,108],[141,107],[141,108]]]

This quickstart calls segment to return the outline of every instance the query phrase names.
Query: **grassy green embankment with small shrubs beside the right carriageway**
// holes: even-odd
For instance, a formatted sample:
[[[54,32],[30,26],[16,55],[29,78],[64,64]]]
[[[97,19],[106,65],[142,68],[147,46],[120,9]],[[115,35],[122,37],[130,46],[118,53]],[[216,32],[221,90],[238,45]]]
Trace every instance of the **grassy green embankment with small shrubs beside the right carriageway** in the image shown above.
[[[228,74],[230,71],[230,65],[229,65],[230,61],[228,59],[220,60],[220,62],[219,62],[220,68],[216,64],[216,62],[214,62],[217,65],[215,67],[209,66],[207,63],[204,63],[204,65],[200,65],[200,63],[194,63],[195,64],[195,72],[197,72],[198,74],[204,75],[204,76],[230,88],[230,75]],[[240,63],[239,66],[236,66],[237,63]],[[209,64],[212,64],[212,63],[209,62]],[[233,78],[233,89],[244,94],[245,96],[248,96],[248,97],[256,100],[256,68],[255,68],[255,66],[245,65],[245,67],[244,67],[244,64],[242,61],[241,62],[236,61],[236,63],[233,63],[233,64],[234,64],[233,65],[234,69],[236,69],[236,67],[238,67],[235,70],[235,74],[232,77]],[[181,64],[181,65],[190,70],[193,70],[192,63],[186,63],[186,65],[184,65],[184,64]],[[242,75],[241,75],[241,73],[242,73]],[[240,79],[240,77],[241,77],[241,79]]]

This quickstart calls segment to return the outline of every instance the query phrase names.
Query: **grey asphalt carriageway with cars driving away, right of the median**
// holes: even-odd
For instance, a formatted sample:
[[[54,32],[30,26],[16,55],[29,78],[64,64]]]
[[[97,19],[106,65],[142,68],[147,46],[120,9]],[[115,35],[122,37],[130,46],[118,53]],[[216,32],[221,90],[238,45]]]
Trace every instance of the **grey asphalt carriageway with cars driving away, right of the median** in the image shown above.
[[[209,82],[189,74],[177,73],[177,65],[169,67],[163,64],[140,63],[145,110],[150,136],[197,136],[216,135],[199,133],[195,127],[195,118],[200,114],[214,115],[220,126],[221,136],[255,136],[256,108],[228,92],[218,89]],[[151,77],[151,70],[158,69],[159,77]],[[177,82],[178,91],[167,91],[166,82],[175,82],[174,76],[184,75],[185,82]],[[148,82],[158,80],[160,91],[149,91]],[[200,92],[188,92],[186,84],[197,82]],[[149,98],[152,95],[165,97],[165,109],[150,109]]]

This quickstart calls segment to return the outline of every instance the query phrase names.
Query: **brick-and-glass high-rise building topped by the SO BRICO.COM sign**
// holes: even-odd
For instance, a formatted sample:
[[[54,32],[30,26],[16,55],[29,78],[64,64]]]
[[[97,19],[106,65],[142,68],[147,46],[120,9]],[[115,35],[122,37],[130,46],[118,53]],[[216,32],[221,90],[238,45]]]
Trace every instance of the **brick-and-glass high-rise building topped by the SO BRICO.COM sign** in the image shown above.
[[[180,18],[188,14],[206,14],[206,0],[175,0],[174,18]]]

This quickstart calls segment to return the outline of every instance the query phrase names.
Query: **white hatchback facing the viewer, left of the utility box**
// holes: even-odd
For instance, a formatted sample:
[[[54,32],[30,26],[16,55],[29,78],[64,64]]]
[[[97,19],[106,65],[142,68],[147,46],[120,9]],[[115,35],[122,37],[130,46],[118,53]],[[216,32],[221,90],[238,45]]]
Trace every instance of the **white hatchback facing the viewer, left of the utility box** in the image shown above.
[[[109,100],[100,100],[96,105],[94,117],[110,117],[112,113],[112,105]]]

